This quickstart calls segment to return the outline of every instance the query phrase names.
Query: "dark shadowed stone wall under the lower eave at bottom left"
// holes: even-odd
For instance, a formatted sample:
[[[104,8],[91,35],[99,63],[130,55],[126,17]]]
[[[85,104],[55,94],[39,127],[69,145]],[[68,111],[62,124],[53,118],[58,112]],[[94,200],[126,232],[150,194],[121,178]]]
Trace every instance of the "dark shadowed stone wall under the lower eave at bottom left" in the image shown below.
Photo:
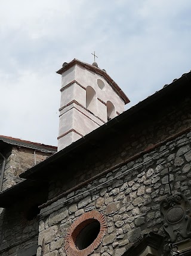
[[[32,187],[31,187],[32,188]],[[0,210],[0,255],[33,256],[38,248],[39,204],[47,201],[47,189],[23,190],[18,200]],[[17,189],[15,189],[17,193]]]

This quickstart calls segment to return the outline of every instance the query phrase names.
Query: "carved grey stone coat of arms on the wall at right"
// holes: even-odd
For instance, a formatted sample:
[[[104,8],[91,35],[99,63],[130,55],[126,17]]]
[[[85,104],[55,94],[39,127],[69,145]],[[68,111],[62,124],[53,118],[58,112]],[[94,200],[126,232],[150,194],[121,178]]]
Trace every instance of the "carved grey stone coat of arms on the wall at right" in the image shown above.
[[[191,237],[191,205],[187,198],[177,193],[161,202],[164,230],[172,243]]]

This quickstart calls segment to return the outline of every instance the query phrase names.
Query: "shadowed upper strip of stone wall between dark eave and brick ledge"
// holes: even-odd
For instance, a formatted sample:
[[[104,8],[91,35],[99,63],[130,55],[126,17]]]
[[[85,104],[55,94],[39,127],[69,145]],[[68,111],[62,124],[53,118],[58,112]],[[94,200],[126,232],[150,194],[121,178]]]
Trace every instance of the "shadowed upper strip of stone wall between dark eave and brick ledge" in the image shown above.
[[[155,148],[161,141],[171,140],[178,132],[184,132],[191,124],[191,97],[180,103],[170,101],[162,108],[147,110],[136,115],[134,122],[127,124],[112,137],[96,141],[98,145],[82,154],[76,153],[75,159],[63,162],[63,176],[50,179],[49,198],[94,177],[121,162],[134,158],[141,152]],[[160,106],[159,106],[160,107]],[[150,112],[149,112],[150,111]],[[78,162],[78,164],[76,164]],[[63,182],[63,180],[65,182]],[[67,182],[66,182],[67,180]]]

